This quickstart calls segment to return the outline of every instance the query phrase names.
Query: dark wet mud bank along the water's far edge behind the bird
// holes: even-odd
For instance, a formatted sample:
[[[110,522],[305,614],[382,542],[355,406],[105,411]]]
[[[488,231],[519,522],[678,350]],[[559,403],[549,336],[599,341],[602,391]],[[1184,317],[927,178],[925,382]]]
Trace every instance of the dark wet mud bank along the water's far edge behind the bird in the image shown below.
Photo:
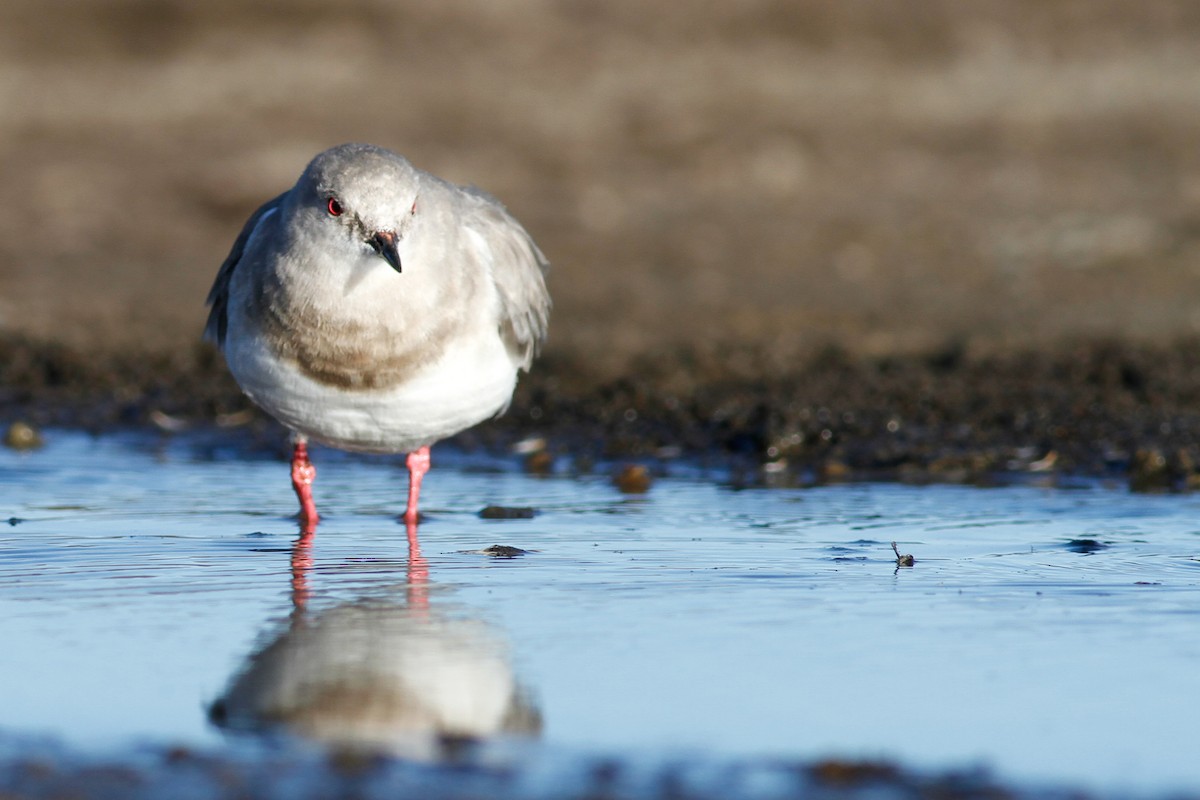
[[[0,416],[96,432],[220,426],[247,446],[282,439],[202,345],[85,351],[0,338]],[[522,377],[505,416],[457,441],[499,449],[529,437],[581,464],[719,461],[746,482],[1036,473],[1181,491],[1200,486],[1200,341],[797,360],[768,347],[676,350],[618,378],[552,354]]]

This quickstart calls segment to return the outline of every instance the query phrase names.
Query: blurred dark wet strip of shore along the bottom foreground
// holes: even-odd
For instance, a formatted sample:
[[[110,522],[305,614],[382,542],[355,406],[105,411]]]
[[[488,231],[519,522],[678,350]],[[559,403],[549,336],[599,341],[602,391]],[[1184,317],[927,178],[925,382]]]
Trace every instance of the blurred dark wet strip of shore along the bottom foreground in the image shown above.
[[[121,756],[89,756],[53,740],[23,742],[0,738],[0,792],[5,798],[396,798],[619,796],[707,800],[710,798],[839,796],[995,798],[1057,800],[1118,793],[1068,789],[1006,780],[979,766],[928,769],[890,759],[704,757],[646,758],[587,753],[529,752],[446,742],[457,757],[444,762],[404,760],[370,751],[326,751],[289,742],[256,747],[193,748],[143,745]],[[510,742],[511,745],[511,742]],[[509,752],[506,752],[506,750]],[[300,788],[307,787],[307,788]],[[764,792],[764,787],[770,787]],[[299,790],[299,794],[296,794]],[[882,794],[881,794],[882,793]],[[1170,796],[1168,793],[1159,793]],[[1147,796],[1156,796],[1148,794]]]

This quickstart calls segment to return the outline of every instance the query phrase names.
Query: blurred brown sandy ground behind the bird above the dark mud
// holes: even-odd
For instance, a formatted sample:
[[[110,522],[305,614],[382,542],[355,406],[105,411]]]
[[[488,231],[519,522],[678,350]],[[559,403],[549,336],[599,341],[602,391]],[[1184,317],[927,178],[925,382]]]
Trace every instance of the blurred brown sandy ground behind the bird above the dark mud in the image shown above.
[[[170,349],[368,140],[504,200],[551,348],[1200,331],[1192,0],[0,6],[0,332]]]

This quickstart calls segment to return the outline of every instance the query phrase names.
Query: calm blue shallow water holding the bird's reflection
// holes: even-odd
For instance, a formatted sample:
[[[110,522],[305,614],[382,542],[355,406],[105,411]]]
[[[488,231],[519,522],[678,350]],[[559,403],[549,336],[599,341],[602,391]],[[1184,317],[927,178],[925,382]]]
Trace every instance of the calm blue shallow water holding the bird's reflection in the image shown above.
[[[506,730],[1200,790],[1200,498],[683,467],[632,497],[442,447],[418,549],[398,459],[314,461],[307,540],[283,463],[200,438],[0,451],[0,727],[110,750],[282,722],[418,758],[422,732]]]

